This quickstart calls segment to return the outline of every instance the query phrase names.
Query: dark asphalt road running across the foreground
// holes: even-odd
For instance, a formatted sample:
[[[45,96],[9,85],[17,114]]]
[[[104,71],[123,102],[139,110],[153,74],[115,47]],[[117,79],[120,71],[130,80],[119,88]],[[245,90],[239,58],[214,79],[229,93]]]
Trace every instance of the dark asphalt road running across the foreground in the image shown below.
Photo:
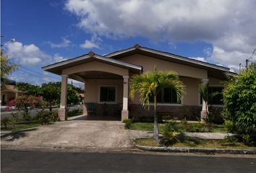
[[[1,172],[255,172],[252,158],[1,151]]]

